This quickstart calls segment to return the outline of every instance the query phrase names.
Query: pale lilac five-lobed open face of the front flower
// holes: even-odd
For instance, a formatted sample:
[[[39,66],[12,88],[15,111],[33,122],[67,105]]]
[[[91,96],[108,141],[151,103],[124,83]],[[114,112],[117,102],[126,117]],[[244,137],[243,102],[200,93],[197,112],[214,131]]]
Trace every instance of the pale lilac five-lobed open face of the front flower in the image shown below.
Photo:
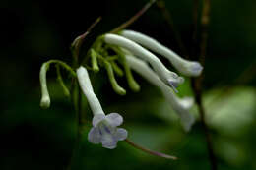
[[[117,128],[122,122],[123,118],[118,113],[96,114],[93,119],[93,128],[88,134],[88,140],[96,144],[101,142],[105,148],[115,148],[117,142],[125,140],[128,135],[125,129]]]

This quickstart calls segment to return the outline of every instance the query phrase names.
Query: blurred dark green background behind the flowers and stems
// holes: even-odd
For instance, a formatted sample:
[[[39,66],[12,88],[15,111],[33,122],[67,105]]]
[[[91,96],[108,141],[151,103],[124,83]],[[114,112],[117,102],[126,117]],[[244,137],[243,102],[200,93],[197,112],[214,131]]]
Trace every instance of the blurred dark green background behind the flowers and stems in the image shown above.
[[[50,69],[48,86],[52,105],[39,107],[40,65],[49,59],[71,63],[70,44],[98,16],[102,21],[85,42],[87,49],[96,35],[116,28],[134,15],[147,0],[32,1],[1,0],[1,113],[0,169],[65,169],[76,138],[75,111],[56,83]],[[193,1],[165,0],[174,27],[187,50],[191,47]],[[218,166],[224,170],[256,169],[256,1],[215,0],[206,56],[204,105],[213,136]],[[129,28],[157,38],[181,54],[173,32],[157,6]],[[162,60],[168,64],[165,60]],[[200,123],[185,133],[160,90],[135,74],[139,93],[127,88],[118,96],[105,71],[92,75],[96,94],[106,112],[121,113],[129,139],[154,150],[173,154],[177,161],[145,154],[126,142],[114,150],[87,141],[92,113],[87,115],[81,149],[73,169],[209,169],[206,141]],[[67,83],[70,82],[65,77]],[[189,79],[179,95],[192,95]],[[196,108],[193,109],[197,116]]]

